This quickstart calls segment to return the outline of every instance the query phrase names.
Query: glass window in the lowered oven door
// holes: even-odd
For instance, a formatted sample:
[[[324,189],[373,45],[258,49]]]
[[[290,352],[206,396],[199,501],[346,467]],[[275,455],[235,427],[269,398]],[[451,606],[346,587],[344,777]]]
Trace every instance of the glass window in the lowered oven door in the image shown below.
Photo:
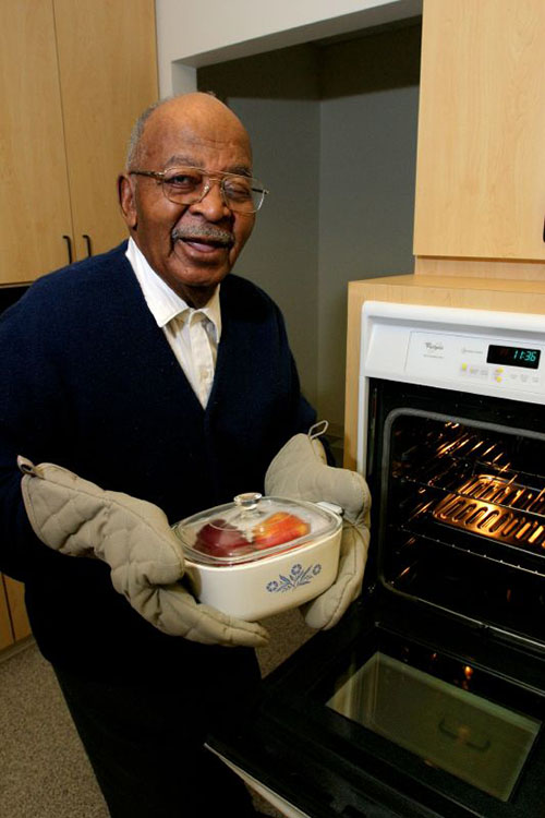
[[[471,667],[464,671],[471,676]],[[537,719],[379,651],[327,705],[501,801],[509,798],[541,727]]]

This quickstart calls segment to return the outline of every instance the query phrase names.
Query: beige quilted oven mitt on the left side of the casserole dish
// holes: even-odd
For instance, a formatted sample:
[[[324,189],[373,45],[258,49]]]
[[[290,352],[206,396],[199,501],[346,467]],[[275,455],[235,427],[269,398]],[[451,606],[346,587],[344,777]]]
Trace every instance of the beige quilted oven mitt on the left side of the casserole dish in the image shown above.
[[[17,465],[35,534],[61,554],[107,563],[114,589],[156,628],[205,645],[266,645],[259,625],[198,603],[179,584],[182,546],[156,505],[104,491],[52,464],[34,466],[19,457]]]

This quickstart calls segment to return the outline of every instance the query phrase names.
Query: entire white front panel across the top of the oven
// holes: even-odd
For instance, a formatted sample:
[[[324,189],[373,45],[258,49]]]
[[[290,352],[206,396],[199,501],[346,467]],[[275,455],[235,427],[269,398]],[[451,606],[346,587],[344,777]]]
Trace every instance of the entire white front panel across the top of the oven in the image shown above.
[[[545,404],[545,316],[366,301],[360,392],[370,377]]]

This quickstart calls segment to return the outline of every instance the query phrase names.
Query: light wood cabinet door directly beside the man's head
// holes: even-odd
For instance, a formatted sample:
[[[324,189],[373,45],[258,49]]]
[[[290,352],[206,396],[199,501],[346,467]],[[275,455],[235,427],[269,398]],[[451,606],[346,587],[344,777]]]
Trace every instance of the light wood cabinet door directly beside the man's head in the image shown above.
[[[77,257],[126,237],[117,196],[132,125],[157,99],[153,0],[53,0]],[[88,236],[86,240],[84,237]]]

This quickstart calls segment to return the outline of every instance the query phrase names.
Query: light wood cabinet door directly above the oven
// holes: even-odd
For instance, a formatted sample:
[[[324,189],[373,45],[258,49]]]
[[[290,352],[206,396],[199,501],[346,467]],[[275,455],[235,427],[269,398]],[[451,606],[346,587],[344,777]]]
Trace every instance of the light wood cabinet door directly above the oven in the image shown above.
[[[424,0],[415,255],[545,260],[544,52],[544,0]]]

